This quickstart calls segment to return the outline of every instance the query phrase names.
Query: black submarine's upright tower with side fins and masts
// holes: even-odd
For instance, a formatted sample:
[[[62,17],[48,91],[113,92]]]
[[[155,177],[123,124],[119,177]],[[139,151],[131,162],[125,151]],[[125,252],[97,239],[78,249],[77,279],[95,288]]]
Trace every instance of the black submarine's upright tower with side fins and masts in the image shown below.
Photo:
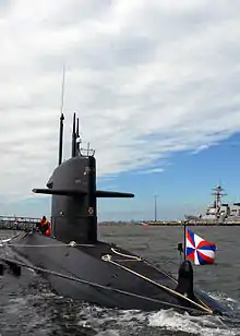
[[[51,195],[52,236],[69,243],[97,242],[97,197],[134,197],[132,193],[96,190],[95,152],[80,148],[79,118],[73,115],[72,157],[62,163],[64,116],[60,117],[59,166],[47,189],[35,193]],[[76,122],[75,122],[76,121]],[[86,154],[83,154],[86,153]]]

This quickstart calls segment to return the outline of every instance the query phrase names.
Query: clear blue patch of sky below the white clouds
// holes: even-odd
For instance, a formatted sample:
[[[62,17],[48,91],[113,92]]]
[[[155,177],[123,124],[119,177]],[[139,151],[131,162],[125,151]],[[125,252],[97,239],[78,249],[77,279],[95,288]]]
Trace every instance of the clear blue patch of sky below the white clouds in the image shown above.
[[[182,219],[184,214],[199,214],[212,203],[212,188],[221,182],[226,202],[240,201],[240,134],[197,153],[173,153],[164,171],[121,173],[99,188],[135,193],[133,200],[100,201],[103,218],[154,219],[154,195],[157,195],[159,219]],[[156,167],[158,163],[156,161]]]

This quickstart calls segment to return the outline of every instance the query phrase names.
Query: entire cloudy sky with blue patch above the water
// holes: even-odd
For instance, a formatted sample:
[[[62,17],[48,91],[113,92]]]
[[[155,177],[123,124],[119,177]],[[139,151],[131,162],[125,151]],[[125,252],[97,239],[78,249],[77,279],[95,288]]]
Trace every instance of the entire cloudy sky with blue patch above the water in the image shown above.
[[[99,219],[197,214],[219,181],[240,201],[238,0],[0,0],[0,214],[50,214],[36,195],[64,158],[72,113],[96,151]]]

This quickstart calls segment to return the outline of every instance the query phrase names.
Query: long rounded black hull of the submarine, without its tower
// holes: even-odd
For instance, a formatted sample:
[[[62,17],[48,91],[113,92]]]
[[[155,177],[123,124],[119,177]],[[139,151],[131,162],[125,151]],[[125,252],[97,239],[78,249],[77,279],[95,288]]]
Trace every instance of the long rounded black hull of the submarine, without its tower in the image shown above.
[[[34,232],[17,238],[13,245],[13,250],[32,265],[50,271],[45,276],[51,288],[63,297],[123,310],[176,308],[194,314],[197,311],[228,314],[201,291],[196,293],[195,302],[185,299],[176,291],[178,281],[171,275],[105,242],[70,245]]]

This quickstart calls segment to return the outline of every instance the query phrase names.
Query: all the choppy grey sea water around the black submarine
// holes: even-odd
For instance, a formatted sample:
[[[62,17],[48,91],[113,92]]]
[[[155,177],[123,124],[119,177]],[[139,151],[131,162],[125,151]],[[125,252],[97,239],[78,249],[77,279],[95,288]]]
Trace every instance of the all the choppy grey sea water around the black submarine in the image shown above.
[[[239,323],[223,323],[217,316],[193,317],[171,309],[146,313],[83,304],[55,295],[39,275],[23,269],[20,278],[8,273],[0,276],[0,335],[240,335],[240,227],[192,229],[217,245],[216,265],[195,266],[194,283],[235,310]],[[0,230],[1,238],[11,235]],[[98,236],[178,273],[182,227],[100,226]],[[12,253],[1,247],[0,251]]]

